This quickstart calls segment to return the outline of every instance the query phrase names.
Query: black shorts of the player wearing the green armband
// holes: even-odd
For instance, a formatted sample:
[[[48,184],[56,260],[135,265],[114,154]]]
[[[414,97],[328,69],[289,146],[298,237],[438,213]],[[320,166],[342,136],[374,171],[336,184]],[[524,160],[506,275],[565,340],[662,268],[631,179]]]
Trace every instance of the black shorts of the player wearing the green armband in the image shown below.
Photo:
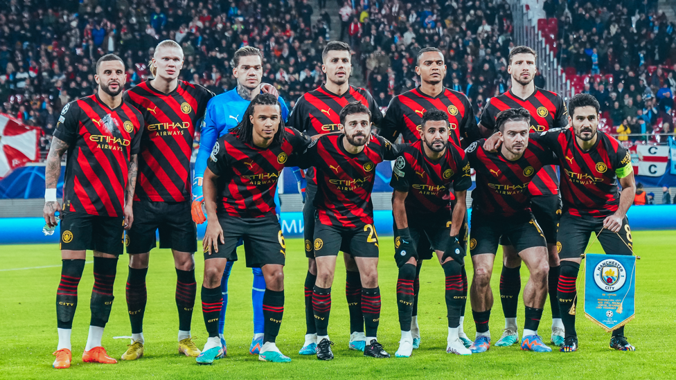
[[[598,231],[601,231],[604,219],[604,217],[575,217],[567,212],[564,213],[561,217],[558,242],[556,242],[559,258],[576,259],[582,253],[585,253],[591,233],[596,235]],[[604,228],[601,231],[601,235],[598,235],[598,242],[601,243],[603,251],[610,255],[632,255],[634,248],[632,230],[629,228],[627,217],[622,221],[622,226],[618,233]],[[598,246],[596,249],[598,250]],[[590,250],[590,252],[596,253],[594,249]]]

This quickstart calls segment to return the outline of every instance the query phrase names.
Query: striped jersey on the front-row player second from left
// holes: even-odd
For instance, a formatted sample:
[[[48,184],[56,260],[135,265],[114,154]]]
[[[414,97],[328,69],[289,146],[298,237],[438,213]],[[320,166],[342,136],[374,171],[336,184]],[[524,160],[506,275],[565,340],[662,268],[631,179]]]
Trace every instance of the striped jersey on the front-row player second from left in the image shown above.
[[[371,135],[371,141],[357,154],[348,153],[344,134],[317,138],[298,158],[301,168],[317,168],[317,195],[314,206],[319,222],[348,228],[373,224],[371,190],[375,166],[397,158],[402,146]]]

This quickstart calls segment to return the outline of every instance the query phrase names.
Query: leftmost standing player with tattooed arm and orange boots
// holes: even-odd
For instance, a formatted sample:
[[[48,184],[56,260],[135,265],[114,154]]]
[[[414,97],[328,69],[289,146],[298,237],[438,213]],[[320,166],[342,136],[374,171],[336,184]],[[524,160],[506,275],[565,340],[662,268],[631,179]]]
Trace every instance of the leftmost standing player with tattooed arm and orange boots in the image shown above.
[[[134,221],[137,154],[143,116],[123,101],[125,64],[114,54],[96,62],[96,95],[68,103],[56,125],[45,169],[44,219],[56,226],[60,212],[62,269],[56,291],[59,345],[54,368],[71,366],[71,329],[78,306],[78,284],[87,249],[94,251],[91,320],[82,361],[117,363],[101,345],[113,307],[118,256],[124,253],[124,229]],[[63,208],[56,200],[61,157],[68,152]]]

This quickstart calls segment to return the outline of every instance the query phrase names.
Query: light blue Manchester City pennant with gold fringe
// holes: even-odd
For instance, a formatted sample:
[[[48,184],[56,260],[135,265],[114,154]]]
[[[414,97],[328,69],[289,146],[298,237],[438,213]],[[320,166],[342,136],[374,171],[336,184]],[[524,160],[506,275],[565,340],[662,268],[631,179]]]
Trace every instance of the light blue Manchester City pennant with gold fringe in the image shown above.
[[[636,256],[585,256],[585,316],[611,332],[634,319]]]

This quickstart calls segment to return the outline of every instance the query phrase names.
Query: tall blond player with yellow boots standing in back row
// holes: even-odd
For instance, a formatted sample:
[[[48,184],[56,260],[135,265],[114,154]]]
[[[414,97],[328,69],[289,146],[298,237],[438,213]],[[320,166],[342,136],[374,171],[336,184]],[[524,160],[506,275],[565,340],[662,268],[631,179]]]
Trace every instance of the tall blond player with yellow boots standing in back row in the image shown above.
[[[129,255],[127,311],[132,324],[132,344],[123,360],[143,356],[143,314],[148,300],[145,275],[150,250],[171,248],[176,267],[176,306],[179,313],[179,353],[199,355],[190,337],[195,307],[195,259],[197,228],[190,216],[190,156],[195,126],[204,116],[213,93],[199,84],[178,80],[183,67],[183,49],[167,39],[157,44],[146,80],[130,89],[124,99],[134,105],[145,120],[141,138],[139,177],[134,194],[134,226],[127,233]]]

